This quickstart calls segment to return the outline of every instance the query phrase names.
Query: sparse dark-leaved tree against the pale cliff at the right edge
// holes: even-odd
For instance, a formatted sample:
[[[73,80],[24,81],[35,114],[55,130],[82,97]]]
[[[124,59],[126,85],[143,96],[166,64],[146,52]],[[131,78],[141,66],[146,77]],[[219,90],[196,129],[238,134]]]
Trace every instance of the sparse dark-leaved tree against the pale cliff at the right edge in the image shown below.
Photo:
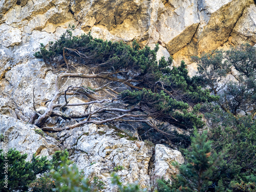
[[[202,82],[215,95],[220,96],[219,104],[223,110],[237,115],[239,111],[256,114],[256,48],[249,44],[231,48],[228,51],[203,53],[193,57],[198,64],[199,77],[194,80]],[[235,80],[226,78],[233,67]]]

